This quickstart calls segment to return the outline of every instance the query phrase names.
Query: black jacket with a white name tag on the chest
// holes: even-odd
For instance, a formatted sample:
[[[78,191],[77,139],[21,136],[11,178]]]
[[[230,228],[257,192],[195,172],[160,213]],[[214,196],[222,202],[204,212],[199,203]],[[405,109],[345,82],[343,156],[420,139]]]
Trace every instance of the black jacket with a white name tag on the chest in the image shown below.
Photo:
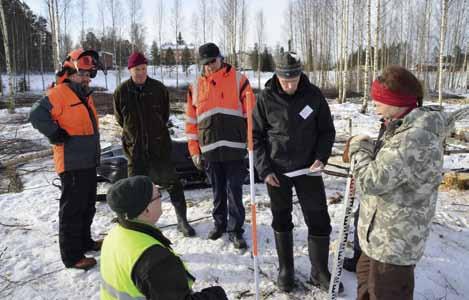
[[[302,74],[294,95],[286,94],[274,75],[253,112],[256,169],[261,178],[273,172],[327,164],[335,139],[329,105],[319,88]]]

